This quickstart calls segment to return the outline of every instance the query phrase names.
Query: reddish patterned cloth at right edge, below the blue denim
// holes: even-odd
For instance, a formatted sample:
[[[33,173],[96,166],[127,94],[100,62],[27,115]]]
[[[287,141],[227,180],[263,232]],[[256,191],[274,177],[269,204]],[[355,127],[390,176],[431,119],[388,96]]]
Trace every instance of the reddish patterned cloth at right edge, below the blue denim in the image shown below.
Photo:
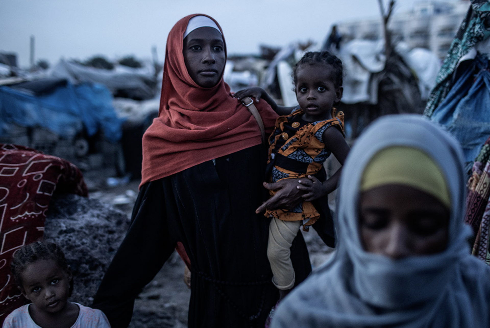
[[[476,235],[472,254],[490,265],[490,138],[473,163],[467,188],[465,223]]]

